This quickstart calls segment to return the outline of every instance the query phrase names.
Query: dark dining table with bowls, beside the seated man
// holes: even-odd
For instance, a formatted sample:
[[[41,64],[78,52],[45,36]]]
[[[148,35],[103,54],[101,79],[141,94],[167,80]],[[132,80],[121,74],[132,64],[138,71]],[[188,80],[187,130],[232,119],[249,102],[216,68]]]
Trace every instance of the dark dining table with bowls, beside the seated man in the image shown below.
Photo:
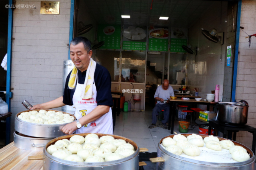
[[[174,118],[176,113],[176,104],[190,104],[191,107],[197,107],[198,104],[207,105],[207,110],[210,109],[210,105],[214,106],[218,104],[218,102],[208,102],[204,100],[196,101],[195,99],[190,100],[182,100],[181,98],[170,99],[170,112],[169,112],[169,121],[168,121],[168,130],[171,130],[171,134],[174,131]]]

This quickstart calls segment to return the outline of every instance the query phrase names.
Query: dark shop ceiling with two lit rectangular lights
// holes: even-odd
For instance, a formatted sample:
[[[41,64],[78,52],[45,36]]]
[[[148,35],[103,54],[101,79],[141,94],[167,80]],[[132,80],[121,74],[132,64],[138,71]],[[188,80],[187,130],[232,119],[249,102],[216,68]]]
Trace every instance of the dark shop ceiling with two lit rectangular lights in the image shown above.
[[[86,6],[79,8],[86,9],[98,24],[165,27],[189,27],[214,3],[208,0],[85,0],[84,2]],[[130,19],[122,19],[121,15],[130,15]],[[160,16],[167,16],[169,19],[159,20]]]

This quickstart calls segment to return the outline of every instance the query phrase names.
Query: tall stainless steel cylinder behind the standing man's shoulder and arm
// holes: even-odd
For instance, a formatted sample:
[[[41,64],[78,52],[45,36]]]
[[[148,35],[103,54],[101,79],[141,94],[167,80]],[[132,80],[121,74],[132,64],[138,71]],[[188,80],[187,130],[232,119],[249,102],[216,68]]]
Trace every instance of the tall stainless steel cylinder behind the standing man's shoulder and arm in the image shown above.
[[[62,72],[62,94],[64,92],[64,88],[65,88],[65,83],[66,83],[66,78],[68,76],[68,74],[70,73],[70,71],[72,71],[72,69],[74,68],[74,63],[71,60],[64,60],[63,61],[63,72]],[[65,111],[67,113],[70,113],[72,115],[74,115],[75,112],[75,108],[73,106],[62,106],[61,107],[61,111]]]

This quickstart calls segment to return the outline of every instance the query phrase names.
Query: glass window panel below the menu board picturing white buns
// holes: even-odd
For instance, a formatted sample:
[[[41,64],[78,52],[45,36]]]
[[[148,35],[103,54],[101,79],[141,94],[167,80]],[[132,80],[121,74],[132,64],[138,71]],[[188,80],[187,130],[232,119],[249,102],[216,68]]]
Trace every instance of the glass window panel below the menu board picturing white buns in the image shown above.
[[[146,53],[135,51],[122,52],[121,82],[145,82]]]

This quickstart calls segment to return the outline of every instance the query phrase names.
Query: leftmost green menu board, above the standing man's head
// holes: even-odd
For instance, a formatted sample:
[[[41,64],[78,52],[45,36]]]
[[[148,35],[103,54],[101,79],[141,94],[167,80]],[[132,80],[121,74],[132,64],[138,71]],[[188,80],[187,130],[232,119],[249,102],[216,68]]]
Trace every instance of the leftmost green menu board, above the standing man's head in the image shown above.
[[[120,49],[120,25],[98,25],[97,39],[104,41],[100,49]]]

